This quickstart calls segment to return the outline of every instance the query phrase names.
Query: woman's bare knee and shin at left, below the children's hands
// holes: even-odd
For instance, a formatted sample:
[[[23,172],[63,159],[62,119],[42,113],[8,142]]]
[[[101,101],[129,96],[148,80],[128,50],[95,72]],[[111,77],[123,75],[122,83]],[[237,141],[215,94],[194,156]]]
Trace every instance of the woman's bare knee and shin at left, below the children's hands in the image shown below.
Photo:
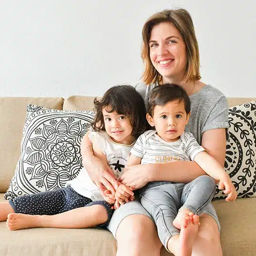
[[[162,244],[154,222],[145,215],[129,215],[117,232],[116,256],[160,256]]]

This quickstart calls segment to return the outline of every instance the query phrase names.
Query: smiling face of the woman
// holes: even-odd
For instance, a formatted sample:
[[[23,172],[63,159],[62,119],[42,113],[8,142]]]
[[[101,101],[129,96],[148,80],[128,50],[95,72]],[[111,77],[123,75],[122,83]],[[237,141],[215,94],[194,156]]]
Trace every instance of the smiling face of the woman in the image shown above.
[[[149,49],[152,64],[162,75],[163,82],[180,83],[187,63],[186,46],[172,23],[162,22],[153,27]]]

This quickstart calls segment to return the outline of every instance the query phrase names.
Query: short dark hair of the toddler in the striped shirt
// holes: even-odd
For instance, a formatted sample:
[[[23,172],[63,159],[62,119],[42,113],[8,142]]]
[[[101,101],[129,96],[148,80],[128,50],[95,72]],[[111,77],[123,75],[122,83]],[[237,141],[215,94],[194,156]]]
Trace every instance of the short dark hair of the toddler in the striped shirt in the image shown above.
[[[148,99],[148,113],[153,117],[155,106],[164,106],[168,102],[184,101],[185,111],[190,112],[190,99],[185,90],[178,84],[165,83],[155,87]]]

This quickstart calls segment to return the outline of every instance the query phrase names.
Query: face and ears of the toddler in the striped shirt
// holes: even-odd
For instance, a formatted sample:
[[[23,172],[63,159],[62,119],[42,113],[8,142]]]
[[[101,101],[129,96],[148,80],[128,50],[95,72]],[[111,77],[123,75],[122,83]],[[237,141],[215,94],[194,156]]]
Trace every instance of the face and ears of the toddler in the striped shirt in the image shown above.
[[[147,120],[155,127],[157,134],[166,142],[175,142],[184,132],[190,113],[185,111],[184,101],[172,101],[164,106],[155,106],[154,116],[147,114]]]

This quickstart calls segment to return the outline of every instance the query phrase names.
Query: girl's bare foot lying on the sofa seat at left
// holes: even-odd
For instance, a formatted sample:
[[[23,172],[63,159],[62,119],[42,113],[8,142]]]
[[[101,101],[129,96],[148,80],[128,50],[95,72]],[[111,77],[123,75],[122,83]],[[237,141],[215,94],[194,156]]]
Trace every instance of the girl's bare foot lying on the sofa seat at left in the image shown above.
[[[6,226],[9,230],[39,227],[39,218],[39,215],[10,213],[7,217]]]

